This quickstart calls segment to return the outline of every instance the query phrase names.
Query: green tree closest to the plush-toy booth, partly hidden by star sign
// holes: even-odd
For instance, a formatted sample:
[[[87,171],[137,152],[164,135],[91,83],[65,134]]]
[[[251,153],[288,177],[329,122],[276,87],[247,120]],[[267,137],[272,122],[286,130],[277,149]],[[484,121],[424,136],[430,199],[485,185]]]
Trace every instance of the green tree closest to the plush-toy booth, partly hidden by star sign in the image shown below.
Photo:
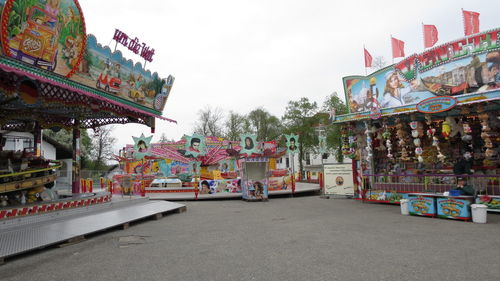
[[[347,106],[338,97],[337,92],[333,92],[330,96],[327,97],[327,99],[323,103],[324,112],[331,112],[332,110],[335,111],[336,115],[348,113]],[[326,143],[328,148],[334,151],[337,162],[343,162],[344,157],[342,155],[340,125],[331,124],[326,127]]]

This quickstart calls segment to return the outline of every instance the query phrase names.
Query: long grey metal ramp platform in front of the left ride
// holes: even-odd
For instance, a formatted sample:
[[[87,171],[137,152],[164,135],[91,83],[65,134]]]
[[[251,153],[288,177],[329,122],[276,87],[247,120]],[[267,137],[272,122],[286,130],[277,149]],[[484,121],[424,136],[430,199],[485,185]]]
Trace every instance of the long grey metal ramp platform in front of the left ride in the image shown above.
[[[184,212],[186,206],[148,198],[115,199],[102,206],[14,218],[0,224],[0,264],[7,257],[67,242],[98,231],[163,213]]]

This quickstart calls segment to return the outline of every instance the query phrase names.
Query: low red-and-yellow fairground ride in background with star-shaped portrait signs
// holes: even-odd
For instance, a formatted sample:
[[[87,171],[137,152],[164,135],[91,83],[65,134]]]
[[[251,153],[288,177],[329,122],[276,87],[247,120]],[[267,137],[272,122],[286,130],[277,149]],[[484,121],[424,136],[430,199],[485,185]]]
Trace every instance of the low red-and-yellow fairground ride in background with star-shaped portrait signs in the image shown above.
[[[113,192],[168,200],[266,200],[269,193],[292,193],[288,170],[276,168],[286,149],[251,134],[240,138],[195,134],[151,144],[151,137],[134,138],[116,156],[123,173],[113,177]]]

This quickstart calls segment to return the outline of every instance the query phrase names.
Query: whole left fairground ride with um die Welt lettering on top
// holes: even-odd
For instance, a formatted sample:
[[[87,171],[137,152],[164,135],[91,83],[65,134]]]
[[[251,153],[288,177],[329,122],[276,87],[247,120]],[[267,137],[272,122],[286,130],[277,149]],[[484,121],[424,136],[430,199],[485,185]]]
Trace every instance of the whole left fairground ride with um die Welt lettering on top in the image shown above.
[[[162,79],[86,34],[78,1],[0,0],[0,219],[107,202],[83,194],[80,130],[138,123],[154,131],[174,78]],[[68,16],[70,15],[70,16]],[[152,61],[154,50],[116,30],[117,42]],[[42,130],[73,132],[72,196],[49,192],[61,163],[44,159]],[[30,132],[33,147],[3,150],[5,132]],[[88,182],[88,181],[86,181]],[[88,190],[91,190],[88,188]]]

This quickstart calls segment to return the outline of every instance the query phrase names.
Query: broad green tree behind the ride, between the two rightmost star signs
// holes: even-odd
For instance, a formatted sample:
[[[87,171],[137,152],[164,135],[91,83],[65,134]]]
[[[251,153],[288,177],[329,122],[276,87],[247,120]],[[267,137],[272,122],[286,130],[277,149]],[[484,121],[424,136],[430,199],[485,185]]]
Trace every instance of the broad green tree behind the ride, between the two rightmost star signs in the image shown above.
[[[318,142],[318,137],[314,126],[319,123],[318,105],[303,97],[298,101],[289,101],[283,115],[285,133],[295,133],[299,135],[299,171],[302,174],[304,167],[302,160],[305,152],[311,151]]]

